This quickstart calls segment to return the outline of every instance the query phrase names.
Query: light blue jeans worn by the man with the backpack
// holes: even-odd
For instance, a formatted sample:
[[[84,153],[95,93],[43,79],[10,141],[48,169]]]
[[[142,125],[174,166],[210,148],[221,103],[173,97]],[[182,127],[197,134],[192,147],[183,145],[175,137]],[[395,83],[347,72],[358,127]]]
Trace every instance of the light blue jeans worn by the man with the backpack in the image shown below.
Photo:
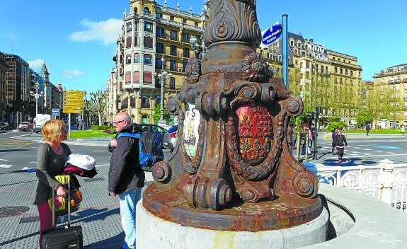
[[[142,197],[142,188],[134,188],[119,195],[120,216],[125,231],[123,248],[135,248],[136,245],[136,204]]]

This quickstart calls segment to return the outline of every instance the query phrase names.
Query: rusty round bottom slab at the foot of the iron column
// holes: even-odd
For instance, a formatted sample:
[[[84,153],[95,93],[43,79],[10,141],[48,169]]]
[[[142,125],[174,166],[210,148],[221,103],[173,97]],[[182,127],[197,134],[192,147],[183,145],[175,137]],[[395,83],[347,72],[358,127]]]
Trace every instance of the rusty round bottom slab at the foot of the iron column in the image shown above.
[[[278,197],[258,203],[234,199],[219,211],[195,209],[175,187],[161,183],[147,187],[143,207],[154,216],[183,226],[251,232],[299,226],[315,219],[322,211],[319,197]]]

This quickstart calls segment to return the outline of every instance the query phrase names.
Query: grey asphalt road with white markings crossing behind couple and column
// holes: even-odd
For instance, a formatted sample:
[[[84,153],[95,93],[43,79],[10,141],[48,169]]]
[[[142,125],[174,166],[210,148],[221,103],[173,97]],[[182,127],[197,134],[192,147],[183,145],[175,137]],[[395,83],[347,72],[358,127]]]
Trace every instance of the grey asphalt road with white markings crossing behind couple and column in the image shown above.
[[[33,132],[6,132],[0,134],[0,173],[23,168],[35,168],[37,150],[42,140],[41,134]],[[107,145],[107,144],[106,144]],[[93,156],[96,166],[108,167],[110,153],[104,146],[69,145],[73,153],[82,153]],[[170,151],[164,150],[164,156]],[[394,163],[407,162],[407,137],[372,138],[360,136],[348,139],[348,148],[345,149],[343,163],[338,164],[338,156],[331,154],[331,141],[318,139],[318,152],[316,160],[309,160],[319,166],[357,166],[377,165],[383,159]],[[302,161],[302,160],[301,160]]]

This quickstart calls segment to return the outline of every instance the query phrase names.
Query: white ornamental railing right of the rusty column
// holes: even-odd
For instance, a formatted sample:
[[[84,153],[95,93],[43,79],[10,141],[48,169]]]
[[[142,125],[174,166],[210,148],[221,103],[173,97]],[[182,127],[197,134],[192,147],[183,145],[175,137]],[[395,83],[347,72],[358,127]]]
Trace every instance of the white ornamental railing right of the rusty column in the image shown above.
[[[318,167],[319,183],[346,187],[380,199],[407,214],[407,163],[382,160],[377,166]]]

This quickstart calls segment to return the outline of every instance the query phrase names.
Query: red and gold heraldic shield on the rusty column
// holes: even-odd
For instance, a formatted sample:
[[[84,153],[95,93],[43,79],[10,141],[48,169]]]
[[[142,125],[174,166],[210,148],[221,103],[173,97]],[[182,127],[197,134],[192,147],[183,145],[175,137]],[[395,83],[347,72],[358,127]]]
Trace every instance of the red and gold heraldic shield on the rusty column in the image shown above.
[[[273,141],[272,117],[262,105],[245,105],[236,110],[241,158],[252,166],[263,162]]]

